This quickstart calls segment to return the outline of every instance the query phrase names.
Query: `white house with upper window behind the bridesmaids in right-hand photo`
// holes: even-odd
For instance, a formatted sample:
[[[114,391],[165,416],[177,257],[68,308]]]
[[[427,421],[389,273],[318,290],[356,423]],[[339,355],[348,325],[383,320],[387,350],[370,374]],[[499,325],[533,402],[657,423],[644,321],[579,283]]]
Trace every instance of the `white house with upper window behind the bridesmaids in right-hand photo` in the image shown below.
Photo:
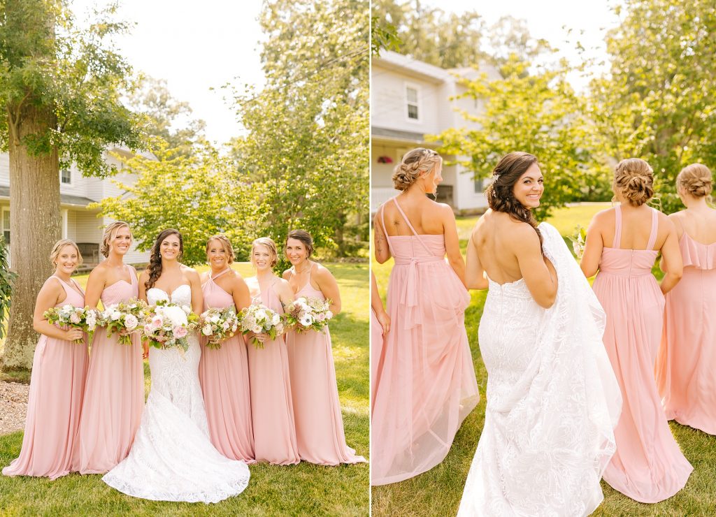
[[[460,77],[474,79],[480,73],[498,79],[493,67],[480,72],[472,68],[442,69],[392,51],[382,51],[371,65],[371,209],[397,193],[392,172],[403,154],[414,147],[440,147],[427,142],[426,135],[445,129],[471,127],[458,110],[478,114],[481,101],[451,99],[465,92]],[[448,161],[464,157],[444,156]],[[458,164],[442,168],[437,200],[448,203],[455,212],[478,212],[487,206],[484,181]]]

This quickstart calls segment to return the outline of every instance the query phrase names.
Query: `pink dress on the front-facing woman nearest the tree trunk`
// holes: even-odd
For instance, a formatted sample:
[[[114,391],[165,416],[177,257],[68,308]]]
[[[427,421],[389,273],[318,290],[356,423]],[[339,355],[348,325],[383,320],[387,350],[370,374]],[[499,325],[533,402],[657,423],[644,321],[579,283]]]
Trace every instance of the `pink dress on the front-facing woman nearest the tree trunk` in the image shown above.
[[[54,279],[54,280],[52,280]],[[57,305],[84,307],[84,296],[58,277],[67,298]],[[79,288],[79,286],[77,286]],[[5,476],[47,476],[56,479],[72,468],[72,448],[87,376],[87,344],[42,335],[32,360],[27,419],[20,456],[6,466]]]

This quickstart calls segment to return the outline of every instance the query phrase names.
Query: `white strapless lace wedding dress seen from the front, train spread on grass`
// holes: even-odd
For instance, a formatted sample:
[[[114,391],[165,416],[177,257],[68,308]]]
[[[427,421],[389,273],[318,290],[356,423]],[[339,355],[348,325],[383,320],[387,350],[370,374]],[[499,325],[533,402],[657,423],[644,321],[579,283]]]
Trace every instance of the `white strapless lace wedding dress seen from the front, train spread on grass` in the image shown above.
[[[168,300],[156,287],[150,304]],[[191,306],[191,287],[181,285],[171,301]],[[201,349],[196,335],[189,350],[150,348],[152,388],[129,456],[102,481],[130,496],[154,501],[216,503],[248,485],[246,463],[221,455],[209,440],[198,378]]]

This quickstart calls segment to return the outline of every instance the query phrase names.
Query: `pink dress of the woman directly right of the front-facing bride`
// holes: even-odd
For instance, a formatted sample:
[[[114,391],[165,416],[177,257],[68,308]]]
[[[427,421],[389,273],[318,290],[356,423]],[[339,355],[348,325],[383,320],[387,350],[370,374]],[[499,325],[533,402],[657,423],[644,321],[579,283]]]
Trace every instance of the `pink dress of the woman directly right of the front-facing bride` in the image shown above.
[[[229,270],[216,275],[224,275]],[[209,275],[202,287],[204,310],[235,307],[233,296]],[[224,456],[244,463],[256,463],[251,427],[251,398],[248,394],[248,357],[241,334],[207,348],[203,336],[199,360],[199,382],[204,395],[211,443]]]

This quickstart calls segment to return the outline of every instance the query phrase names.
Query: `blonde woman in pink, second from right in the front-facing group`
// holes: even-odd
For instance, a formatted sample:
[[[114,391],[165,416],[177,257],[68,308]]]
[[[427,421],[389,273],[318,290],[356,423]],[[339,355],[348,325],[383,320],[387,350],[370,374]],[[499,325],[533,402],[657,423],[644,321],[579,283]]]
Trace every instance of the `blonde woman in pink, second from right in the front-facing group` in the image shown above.
[[[269,307],[279,314],[294,299],[289,282],[271,270],[279,260],[276,243],[260,237],[251,244],[251,265],[256,276],[247,278],[253,303]],[[294,465],[301,461],[296,443],[294,403],[291,400],[289,355],[286,338],[270,340],[269,335],[256,336],[263,348],[248,345],[248,379],[251,383],[251,419],[256,461],[274,465]]]

